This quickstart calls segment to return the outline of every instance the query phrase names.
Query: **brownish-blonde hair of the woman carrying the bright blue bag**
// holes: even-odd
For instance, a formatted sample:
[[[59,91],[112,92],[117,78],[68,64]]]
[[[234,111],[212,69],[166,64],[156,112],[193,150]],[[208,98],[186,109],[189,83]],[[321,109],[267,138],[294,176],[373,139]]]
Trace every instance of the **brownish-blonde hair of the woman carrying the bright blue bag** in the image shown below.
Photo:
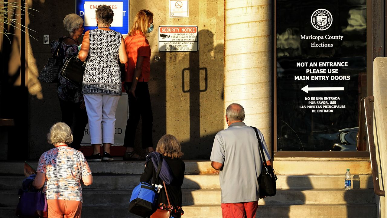
[[[156,151],[160,154],[165,154],[170,158],[181,158],[183,156],[182,146],[180,142],[172,135],[164,135],[157,142]]]

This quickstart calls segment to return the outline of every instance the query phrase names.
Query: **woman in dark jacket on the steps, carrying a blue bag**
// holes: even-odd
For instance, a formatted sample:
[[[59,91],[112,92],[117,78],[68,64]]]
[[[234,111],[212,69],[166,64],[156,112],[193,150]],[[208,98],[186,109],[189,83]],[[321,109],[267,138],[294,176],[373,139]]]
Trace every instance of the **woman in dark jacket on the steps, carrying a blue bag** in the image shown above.
[[[171,174],[159,175],[155,181],[155,184],[163,185],[163,180],[160,179],[160,177],[168,178],[169,181],[165,181],[164,179],[164,182],[166,182],[166,189],[168,192],[171,208],[168,206],[165,188],[161,189],[159,193],[157,207],[163,210],[171,210],[171,215],[173,218],[180,218],[184,214],[182,209],[182,184],[185,170],[185,164],[180,159],[183,156],[180,143],[175,136],[164,135],[157,143],[156,152],[163,155],[163,161],[168,163]],[[156,154],[151,153],[149,156],[156,156]],[[156,163],[158,163],[158,161]],[[141,175],[140,181],[153,183],[151,180],[154,177],[156,177],[155,166],[151,158],[147,157],[146,167],[144,173]],[[170,182],[170,184],[167,184],[167,182]]]

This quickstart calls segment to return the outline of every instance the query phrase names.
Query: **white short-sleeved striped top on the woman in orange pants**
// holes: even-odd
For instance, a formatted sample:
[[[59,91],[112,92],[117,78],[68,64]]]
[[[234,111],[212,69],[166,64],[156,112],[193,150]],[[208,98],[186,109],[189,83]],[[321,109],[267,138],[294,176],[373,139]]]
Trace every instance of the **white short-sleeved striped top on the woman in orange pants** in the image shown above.
[[[82,152],[68,146],[50,149],[40,156],[36,172],[46,174],[46,199],[83,202],[80,179],[91,170]]]

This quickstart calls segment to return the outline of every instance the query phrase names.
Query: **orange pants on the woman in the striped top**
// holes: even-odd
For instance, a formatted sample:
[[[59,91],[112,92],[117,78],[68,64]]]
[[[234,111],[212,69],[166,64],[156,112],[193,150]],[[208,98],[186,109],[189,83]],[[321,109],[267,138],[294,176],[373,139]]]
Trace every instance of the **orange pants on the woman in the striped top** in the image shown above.
[[[48,218],[80,218],[82,202],[48,199]]]

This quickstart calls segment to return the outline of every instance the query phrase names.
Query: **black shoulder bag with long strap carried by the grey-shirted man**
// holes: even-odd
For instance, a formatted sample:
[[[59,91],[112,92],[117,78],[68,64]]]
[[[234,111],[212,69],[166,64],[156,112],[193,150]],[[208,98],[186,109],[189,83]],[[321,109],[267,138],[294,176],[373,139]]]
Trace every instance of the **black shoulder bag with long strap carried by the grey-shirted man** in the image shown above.
[[[263,160],[261,175],[259,175],[259,177],[258,177],[259,197],[262,198],[262,197],[267,197],[267,196],[275,196],[276,192],[277,192],[276,173],[274,173],[274,169],[270,165],[267,165],[267,163],[266,163],[264,149],[262,146],[262,140],[260,139],[260,137],[258,135],[257,128],[255,128],[255,127],[251,127],[251,128],[254,129],[255,135],[257,136],[260,154],[261,154],[262,160]]]

